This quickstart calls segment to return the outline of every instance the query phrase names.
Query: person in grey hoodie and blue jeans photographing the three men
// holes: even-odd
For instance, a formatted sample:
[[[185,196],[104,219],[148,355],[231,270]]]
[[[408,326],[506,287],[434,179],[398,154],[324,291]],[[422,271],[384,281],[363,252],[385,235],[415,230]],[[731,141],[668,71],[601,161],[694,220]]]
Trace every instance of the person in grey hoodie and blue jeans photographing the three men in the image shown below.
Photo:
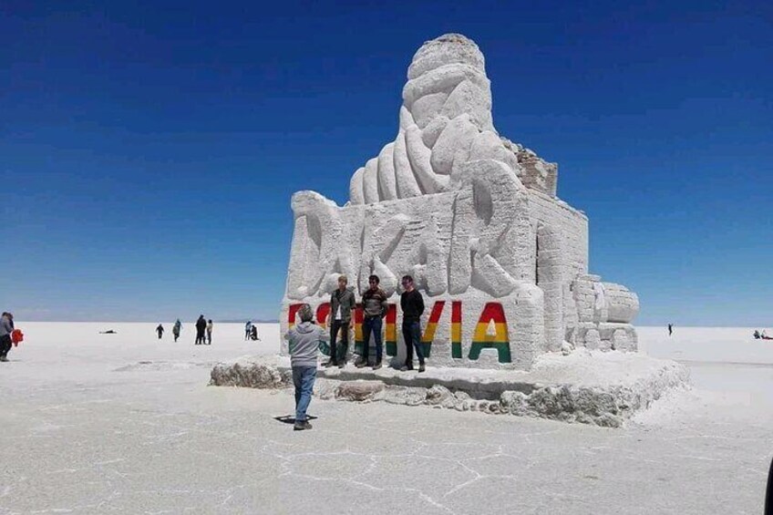
[[[325,340],[325,330],[312,322],[314,313],[309,304],[301,306],[298,310],[298,316],[301,318],[301,323],[296,324],[287,332],[287,341],[295,386],[295,425],[293,428],[295,431],[303,431],[312,428],[306,419],[306,410],[312,401],[317,355],[319,354],[319,345]]]

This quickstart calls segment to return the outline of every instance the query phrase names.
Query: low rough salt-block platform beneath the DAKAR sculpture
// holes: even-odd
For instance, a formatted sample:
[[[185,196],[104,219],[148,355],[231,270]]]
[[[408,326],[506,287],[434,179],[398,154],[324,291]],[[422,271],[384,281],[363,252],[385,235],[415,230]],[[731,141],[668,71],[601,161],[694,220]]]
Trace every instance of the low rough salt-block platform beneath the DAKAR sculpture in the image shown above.
[[[244,357],[214,366],[210,384],[283,388],[292,385],[291,376],[287,357]],[[688,370],[674,361],[581,349],[542,355],[528,372],[428,366],[419,374],[352,364],[320,367],[314,394],[620,427],[668,390],[688,385]]]

